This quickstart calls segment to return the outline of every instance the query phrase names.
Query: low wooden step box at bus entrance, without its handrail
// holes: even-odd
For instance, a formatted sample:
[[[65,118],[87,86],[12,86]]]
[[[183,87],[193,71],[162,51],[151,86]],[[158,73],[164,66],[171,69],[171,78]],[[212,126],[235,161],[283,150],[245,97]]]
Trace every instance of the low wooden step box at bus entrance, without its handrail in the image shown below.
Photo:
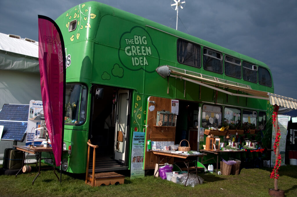
[[[116,172],[100,172],[95,174],[94,179],[92,174],[88,174],[86,183],[91,186],[119,185],[124,184],[124,179],[124,175]]]

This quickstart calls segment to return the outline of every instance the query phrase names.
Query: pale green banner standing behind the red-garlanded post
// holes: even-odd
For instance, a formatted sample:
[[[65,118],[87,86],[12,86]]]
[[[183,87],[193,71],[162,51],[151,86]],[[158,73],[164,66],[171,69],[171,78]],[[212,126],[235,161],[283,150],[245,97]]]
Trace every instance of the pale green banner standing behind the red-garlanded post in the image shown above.
[[[279,153],[282,157],[281,166],[285,165],[285,150],[286,150],[286,139],[287,139],[287,128],[288,128],[288,121],[290,116],[283,116],[277,115],[278,118],[278,125],[280,130],[281,138],[279,140]],[[275,141],[275,130],[272,127],[272,140],[271,140],[271,149],[273,150],[273,145]],[[275,154],[274,151],[271,152],[271,166],[275,165]]]

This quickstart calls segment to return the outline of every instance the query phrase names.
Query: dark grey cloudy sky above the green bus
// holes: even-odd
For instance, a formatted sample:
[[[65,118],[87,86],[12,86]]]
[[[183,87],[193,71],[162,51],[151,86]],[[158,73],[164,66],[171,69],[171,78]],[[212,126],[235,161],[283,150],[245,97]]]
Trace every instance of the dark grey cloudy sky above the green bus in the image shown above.
[[[185,0],[178,30],[266,63],[275,93],[297,99],[296,0]],[[79,0],[1,0],[0,32],[38,40],[37,15],[53,20]],[[171,0],[100,0],[176,28]]]

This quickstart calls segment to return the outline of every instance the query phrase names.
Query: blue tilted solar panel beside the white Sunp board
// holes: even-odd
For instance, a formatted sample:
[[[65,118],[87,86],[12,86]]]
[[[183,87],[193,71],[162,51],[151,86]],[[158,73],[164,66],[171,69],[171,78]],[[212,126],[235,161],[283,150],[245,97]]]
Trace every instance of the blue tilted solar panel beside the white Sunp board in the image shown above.
[[[3,125],[2,138],[23,142],[28,125],[29,105],[4,104],[0,110],[0,125]]]

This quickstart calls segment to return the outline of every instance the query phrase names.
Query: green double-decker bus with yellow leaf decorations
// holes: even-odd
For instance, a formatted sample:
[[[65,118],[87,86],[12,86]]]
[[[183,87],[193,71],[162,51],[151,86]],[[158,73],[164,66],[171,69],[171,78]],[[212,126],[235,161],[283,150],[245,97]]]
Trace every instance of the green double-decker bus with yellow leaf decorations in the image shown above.
[[[98,145],[96,171],[130,169],[135,131],[145,132],[145,170],[156,163],[147,140],[186,139],[184,146],[199,150],[205,129],[229,125],[271,144],[266,95],[274,86],[265,63],[95,1],[56,23],[67,66],[64,171],[86,172],[89,139]],[[172,109],[174,124],[158,125],[158,112]]]

